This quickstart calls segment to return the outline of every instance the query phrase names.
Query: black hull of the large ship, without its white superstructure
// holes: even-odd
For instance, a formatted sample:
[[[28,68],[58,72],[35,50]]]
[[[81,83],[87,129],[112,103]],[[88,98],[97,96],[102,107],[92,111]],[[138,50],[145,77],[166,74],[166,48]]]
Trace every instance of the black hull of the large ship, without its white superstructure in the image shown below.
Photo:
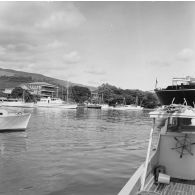
[[[162,105],[174,104],[184,104],[187,102],[187,105],[195,105],[195,89],[156,89],[155,93]]]

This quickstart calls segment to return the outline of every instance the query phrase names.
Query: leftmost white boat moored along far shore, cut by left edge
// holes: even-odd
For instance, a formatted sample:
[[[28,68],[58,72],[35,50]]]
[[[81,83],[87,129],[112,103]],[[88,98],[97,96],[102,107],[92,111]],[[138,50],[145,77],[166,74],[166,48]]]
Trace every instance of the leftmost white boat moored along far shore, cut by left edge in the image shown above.
[[[22,99],[17,98],[0,98],[0,105],[6,107],[23,107],[33,108],[33,102],[24,102]]]

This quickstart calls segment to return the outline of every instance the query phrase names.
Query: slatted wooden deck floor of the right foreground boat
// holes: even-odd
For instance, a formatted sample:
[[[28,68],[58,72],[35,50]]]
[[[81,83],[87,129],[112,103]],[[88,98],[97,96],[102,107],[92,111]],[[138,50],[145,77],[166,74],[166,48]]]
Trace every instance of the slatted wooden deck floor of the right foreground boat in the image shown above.
[[[160,195],[195,195],[195,181],[171,179],[168,185],[153,184],[150,191]]]

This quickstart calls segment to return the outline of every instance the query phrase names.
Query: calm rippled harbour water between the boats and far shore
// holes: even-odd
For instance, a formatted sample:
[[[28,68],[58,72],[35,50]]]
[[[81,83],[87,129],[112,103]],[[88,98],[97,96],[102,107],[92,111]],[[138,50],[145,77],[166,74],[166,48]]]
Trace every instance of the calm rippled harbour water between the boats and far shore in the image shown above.
[[[113,195],[145,159],[147,111],[25,112],[25,132],[0,134],[0,194]]]

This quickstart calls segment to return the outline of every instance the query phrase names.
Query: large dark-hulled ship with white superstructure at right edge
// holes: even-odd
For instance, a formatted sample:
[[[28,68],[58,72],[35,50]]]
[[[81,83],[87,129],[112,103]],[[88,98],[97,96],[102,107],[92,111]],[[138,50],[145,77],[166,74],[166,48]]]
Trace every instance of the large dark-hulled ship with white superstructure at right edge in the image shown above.
[[[195,78],[173,78],[172,85],[154,91],[162,105],[174,103],[195,107]]]

